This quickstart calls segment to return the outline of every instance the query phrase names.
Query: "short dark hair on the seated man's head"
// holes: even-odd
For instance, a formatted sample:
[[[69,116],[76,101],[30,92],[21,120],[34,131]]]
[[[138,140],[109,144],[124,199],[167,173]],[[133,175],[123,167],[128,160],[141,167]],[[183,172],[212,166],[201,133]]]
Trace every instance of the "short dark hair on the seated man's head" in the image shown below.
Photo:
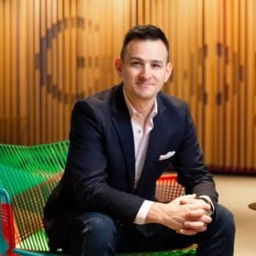
[[[167,50],[167,62],[169,61],[169,43],[165,33],[159,27],[143,25],[131,28],[123,39],[123,47],[120,53],[121,59],[124,59],[126,47],[132,40],[161,40]]]

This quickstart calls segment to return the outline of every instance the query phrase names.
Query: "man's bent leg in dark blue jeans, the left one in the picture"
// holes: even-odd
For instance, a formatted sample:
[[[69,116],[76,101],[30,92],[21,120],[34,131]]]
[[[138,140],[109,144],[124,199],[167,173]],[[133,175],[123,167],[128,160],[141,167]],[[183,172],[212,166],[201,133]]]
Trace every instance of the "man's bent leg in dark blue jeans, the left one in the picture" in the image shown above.
[[[101,213],[85,213],[74,219],[68,251],[76,256],[115,255],[116,227],[114,221]]]

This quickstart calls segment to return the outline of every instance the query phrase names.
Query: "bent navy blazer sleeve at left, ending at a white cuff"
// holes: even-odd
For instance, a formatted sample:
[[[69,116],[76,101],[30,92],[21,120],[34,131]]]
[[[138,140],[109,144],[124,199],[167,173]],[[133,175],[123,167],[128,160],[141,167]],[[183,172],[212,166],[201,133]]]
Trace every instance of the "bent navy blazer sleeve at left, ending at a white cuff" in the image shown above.
[[[106,116],[106,119],[109,117]],[[133,222],[144,199],[110,187],[104,155],[104,125],[87,101],[75,104],[71,114],[70,145],[66,172],[80,210],[99,211]]]

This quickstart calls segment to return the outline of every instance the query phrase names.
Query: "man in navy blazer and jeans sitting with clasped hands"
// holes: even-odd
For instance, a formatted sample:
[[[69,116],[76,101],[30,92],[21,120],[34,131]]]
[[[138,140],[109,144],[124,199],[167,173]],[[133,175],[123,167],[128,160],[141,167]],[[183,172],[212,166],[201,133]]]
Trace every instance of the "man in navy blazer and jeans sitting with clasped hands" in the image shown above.
[[[75,104],[64,176],[45,208],[52,250],[102,256],[197,243],[197,255],[233,255],[233,216],[218,205],[187,103],[161,92],[168,51],[161,29],[133,27],[115,62],[123,82]],[[155,202],[170,164],[187,196]]]

